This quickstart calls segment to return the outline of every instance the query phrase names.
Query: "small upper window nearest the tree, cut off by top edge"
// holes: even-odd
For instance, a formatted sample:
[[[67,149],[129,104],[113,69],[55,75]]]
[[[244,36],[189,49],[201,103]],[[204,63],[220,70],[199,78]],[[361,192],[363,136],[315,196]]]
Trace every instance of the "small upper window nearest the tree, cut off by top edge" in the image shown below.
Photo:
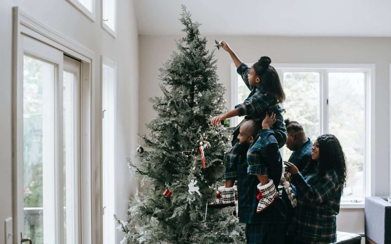
[[[102,28],[114,38],[116,36],[116,0],[102,0]]]

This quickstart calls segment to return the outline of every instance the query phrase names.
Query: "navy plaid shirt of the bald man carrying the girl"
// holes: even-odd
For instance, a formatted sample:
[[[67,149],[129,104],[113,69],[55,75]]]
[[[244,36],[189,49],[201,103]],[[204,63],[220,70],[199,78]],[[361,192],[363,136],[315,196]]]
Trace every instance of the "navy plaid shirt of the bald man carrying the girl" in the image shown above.
[[[282,173],[282,158],[273,130],[260,130],[262,152],[267,157],[260,157],[260,163],[270,161],[269,178],[276,184],[280,183]],[[250,145],[251,147],[251,145]],[[246,154],[248,147],[240,146],[236,157],[238,173],[238,203],[239,222],[246,224],[285,224],[286,206],[282,199],[277,197],[276,201],[262,213],[257,214],[257,185],[259,180],[255,175],[247,173],[248,164]]]

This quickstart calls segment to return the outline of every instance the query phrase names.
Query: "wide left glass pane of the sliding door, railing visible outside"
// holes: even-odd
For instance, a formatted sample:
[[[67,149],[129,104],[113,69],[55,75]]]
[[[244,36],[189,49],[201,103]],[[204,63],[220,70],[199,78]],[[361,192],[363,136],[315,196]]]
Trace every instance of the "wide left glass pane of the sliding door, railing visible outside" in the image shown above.
[[[54,81],[55,66],[23,58],[24,237],[54,240]]]

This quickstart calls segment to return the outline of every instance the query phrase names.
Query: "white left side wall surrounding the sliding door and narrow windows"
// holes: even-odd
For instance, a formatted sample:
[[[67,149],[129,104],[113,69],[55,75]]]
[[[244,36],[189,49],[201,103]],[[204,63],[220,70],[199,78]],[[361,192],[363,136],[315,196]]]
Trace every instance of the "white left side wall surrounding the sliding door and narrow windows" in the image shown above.
[[[0,2],[0,243],[4,220],[12,215],[11,189],[11,60],[12,7],[46,24],[95,52],[95,80],[100,82],[100,55],[117,62],[116,202],[119,216],[127,214],[125,202],[137,183],[131,180],[126,157],[136,148],[138,128],[138,34],[132,0],[117,0],[117,38],[101,28],[100,0],[96,21],[82,15],[66,0],[3,0]],[[99,92],[96,90],[95,92]],[[98,95],[99,96],[99,95]],[[16,233],[14,233],[16,234]],[[123,234],[118,231],[117,241]]]

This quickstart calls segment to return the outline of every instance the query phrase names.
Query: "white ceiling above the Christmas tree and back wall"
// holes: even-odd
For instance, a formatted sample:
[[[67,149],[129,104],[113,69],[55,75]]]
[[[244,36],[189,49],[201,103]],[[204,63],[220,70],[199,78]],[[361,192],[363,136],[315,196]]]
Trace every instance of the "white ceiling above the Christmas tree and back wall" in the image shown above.
[[[181,4],[202,35],[391,37],[391,0],[134,0],[140,35],[182,35]]]

